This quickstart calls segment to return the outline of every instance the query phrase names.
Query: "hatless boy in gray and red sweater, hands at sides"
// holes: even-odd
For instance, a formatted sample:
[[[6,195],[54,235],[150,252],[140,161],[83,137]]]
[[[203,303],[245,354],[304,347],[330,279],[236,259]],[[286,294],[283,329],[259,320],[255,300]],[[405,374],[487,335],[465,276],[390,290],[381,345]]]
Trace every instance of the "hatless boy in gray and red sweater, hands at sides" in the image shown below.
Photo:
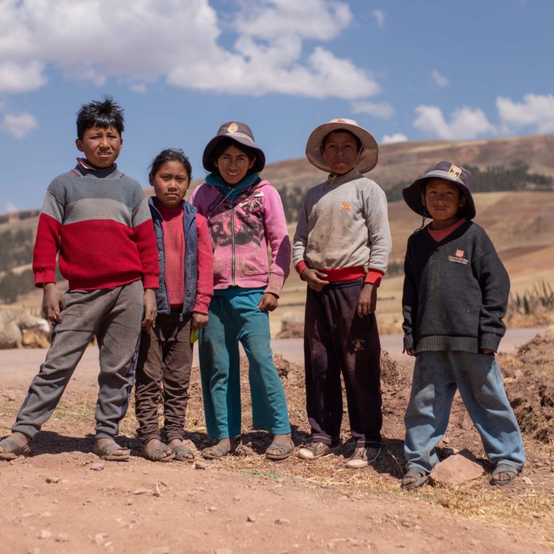
[[[30,453],[94,335],[100,358],[94,452],[106,460],[129,459],[114,437],[127,411],[143,308],[146,321],[156,318],[159,267],[144,190],[115,163],[123,129],[123,110],[110,96],[83,105],[75,144],[84,158],[46,191],[33,271],[44,316],[54,324],[52,343],[12,435],[0,441],[0,459]],[[63,296],[55,285],[57,253],[69,281]]]

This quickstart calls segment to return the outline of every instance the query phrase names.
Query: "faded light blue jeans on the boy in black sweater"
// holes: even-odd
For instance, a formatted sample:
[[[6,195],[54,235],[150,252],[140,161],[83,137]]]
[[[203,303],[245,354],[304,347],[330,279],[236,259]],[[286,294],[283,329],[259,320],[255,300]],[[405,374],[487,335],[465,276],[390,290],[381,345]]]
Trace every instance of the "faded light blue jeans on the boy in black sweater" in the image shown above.
[[[415,359],[404,416],[406,467],[429,473],[438,463],[436,445],[446,432],[456,388],[490,463],[506,463],[521,471],[524,444],[497,361],[493,355],[461,351],[420,352]]]

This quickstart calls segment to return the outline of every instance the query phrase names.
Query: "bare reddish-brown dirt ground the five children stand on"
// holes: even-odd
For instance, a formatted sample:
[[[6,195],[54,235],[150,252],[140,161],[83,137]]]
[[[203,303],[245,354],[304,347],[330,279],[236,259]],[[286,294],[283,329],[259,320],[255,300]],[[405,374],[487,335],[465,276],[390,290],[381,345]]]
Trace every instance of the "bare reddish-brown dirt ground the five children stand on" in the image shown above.
[[[0,436],[8,434],[45,352],[2,352]],[[120,429],[120,443],[132,448],[131,461],[99,463],[90,453],[97,356],[93,347],[85,353],[62,402],[33,442],[33,456],[0,464],[6,507],[0,513],[1,553],[554,551],[554,447],[552,435],[544,431],[537,436],[537,429],[524,427],[528,463],[510,487],[493,488],[487,472],[456,487],[400,489],[409,365],[402,367],[384,357],[382,456],[373,467],[356,471],[344,467],[354,447],[346,413],[339,456],[310,463],[294,454],[283,462],[267,461],[262,455],[269,445],[267,434],[251,431],[246,364],[244,434],[233,456],[197,465],[151,463],[134,440],[131,406]],[[506,366],[510,400],[523,398],[533,413],[548,409],[554,382],[553,336],[537,337],[519,352],[499,358]],[[282,357],[276,357],[276,363],[298,446],[309,431],[303,368]],[[551,430],[551,412],[540,414],[541,429]],[[197,368],[193,368],[186,431],[195,449],[209,444]],[[467,447],[490,470],[459,398],[441,447],[444,454]]]

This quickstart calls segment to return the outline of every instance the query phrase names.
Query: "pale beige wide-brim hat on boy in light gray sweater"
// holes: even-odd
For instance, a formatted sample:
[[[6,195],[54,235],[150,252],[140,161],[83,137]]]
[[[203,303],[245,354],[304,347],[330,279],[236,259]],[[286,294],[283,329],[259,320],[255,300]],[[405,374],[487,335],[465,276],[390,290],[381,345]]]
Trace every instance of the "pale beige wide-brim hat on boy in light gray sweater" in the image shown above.
[[[349,131],[357,136],[361,143],[361,154],[358,157],[356,168],[360,173],[367,173],[377,166],[379,146],[373,135],[360,127],[353,119],[332,119],[329,123],[323,123],[316,127],[306,144],[306,157],[313,166],[328,173],[331,168],[327,165],[323,156],[323,139],[333,131]]]

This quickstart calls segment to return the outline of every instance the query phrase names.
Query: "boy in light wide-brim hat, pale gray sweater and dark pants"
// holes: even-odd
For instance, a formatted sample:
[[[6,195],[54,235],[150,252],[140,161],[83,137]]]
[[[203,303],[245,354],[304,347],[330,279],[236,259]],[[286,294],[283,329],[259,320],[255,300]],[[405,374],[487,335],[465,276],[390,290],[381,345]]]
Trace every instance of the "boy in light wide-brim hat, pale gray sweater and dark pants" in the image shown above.
[[[377,287],[391,251],[386,197],[364,177],[377,164],[373,136],[351,119],[316,127],[307,159],[328,172],[305,197],[294,235],[293,262],[307,282],[304,353],[312,442],[298,455],[339,449],[342,373],[356,449],[346,464],[366,467],[381,444]],[[367,268],[367,269],[366,269]]]

